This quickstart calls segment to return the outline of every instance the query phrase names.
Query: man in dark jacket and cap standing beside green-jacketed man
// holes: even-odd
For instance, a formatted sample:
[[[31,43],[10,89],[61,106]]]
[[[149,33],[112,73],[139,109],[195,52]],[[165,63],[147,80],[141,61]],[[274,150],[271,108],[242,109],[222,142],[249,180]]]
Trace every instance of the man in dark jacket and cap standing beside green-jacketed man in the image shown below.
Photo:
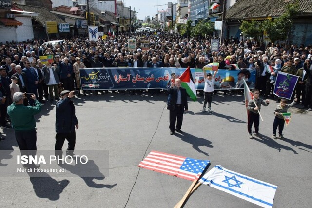
[[[76,131],[78,129],[78,120],[75,115],[75,105],[71,100],[75,91],[64,90],[59,95],[61,100],[56,104],[56,122],[55,122],[55,150],[62,150],[65,139],[68,141],[66,152],[73,152],[76,144]]]

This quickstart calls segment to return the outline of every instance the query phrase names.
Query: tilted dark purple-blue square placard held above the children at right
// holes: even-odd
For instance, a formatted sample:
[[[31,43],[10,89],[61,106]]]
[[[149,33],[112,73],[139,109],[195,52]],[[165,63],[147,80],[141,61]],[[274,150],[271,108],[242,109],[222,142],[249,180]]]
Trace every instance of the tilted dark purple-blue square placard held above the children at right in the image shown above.
[[[278,72],[274,87],[274,94],[281,98],[291,99],[298,78],[298,76],[292,74]]]

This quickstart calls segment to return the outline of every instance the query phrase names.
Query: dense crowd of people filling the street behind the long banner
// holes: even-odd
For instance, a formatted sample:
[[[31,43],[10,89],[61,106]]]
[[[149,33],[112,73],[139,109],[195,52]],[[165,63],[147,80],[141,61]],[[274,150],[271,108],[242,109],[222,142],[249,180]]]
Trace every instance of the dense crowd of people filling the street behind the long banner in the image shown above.
[[[135,49],[129,49],[129,38],[137,39]],[[218,51],[211,51],[210,37],[186,38],[165,32],[124,33],[98,41],[77,37],[55,45],[43,43],[41,39],[0,43],[2,128],[10,128],[4,115],[14,92],[34,94],[40,103],[59,100],[62,90],[79,90],[80,96],[79,70],[95,67],[203,68],[208,63],[218,62],[219,69],[256,69],[255,87],[265,98],[273,98],[276,75],[281,71],[300,77],[293,97],[298,98],[296,104],[301,102],[312,110],[311,45],[272,43],[266,46],[250,39],[240,42],[228,39],[222,41]],[[40,56],[46,55],[53,55],[54,62],[42,64]],[[268,66],[272,66],[273,72],[266,70]],[[84,95],[98,93],[83,91]],[[108,91],[101,92],[104,93]],[[139,91],[130,91],[130,95],[135,93]],[[34,100],[28,96],[23,104],[34,106]]]

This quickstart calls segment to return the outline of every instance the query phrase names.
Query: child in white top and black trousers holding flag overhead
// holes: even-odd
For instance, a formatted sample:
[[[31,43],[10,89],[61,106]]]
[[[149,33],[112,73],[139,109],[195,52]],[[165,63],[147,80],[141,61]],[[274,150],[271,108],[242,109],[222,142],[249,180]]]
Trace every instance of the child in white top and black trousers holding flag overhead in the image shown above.
[[[202,68],[202,70],[204,71],[204,77],[205,77],[205,86],[204,86],[204,107],[202,112],[206,112],[206,105],[208,102],[208,112],[212,112],[211,111],[211,102],[212,102],[212,98],[213,98],[213,94],[214,94],[214,79],[215,79],[215,75],[216,72],[214,73],[214,76],[212,76],[211,73],[206,74],[206,70],[204,68]]]

